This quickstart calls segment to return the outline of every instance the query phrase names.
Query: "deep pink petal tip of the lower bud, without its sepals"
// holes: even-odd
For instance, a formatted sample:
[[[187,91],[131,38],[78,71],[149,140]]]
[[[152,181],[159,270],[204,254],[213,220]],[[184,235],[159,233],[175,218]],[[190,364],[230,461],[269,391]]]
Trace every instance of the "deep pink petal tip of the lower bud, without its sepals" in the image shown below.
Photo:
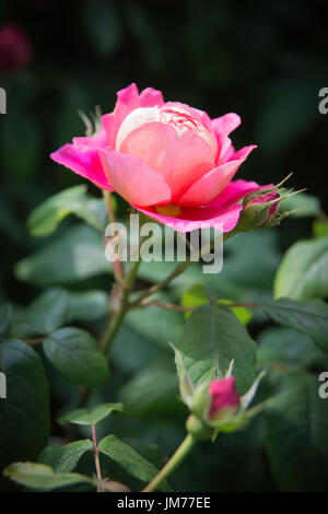
[[[234,376],[211,382],[210,397],[210,419],[216,418],[222,411],[234,412],[241,402]]]

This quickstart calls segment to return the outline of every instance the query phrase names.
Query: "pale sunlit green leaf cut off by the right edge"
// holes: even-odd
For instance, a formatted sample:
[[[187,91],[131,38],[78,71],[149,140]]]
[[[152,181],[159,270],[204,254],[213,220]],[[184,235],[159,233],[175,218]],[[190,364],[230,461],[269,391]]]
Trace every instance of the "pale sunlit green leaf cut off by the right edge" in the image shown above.
[[[300,241],[285,253],[274,280],[274,297],[294,300],[328,294],[328,236]]]

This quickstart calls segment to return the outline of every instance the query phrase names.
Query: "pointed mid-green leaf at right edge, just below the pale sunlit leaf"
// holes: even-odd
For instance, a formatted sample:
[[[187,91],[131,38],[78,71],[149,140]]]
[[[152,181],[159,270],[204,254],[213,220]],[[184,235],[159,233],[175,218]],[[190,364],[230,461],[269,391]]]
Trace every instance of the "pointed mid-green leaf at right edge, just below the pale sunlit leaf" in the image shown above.
[[[281,299],[276,302],[261,302],[260,305],[274,323],[301,330],[321,350],[328,352],[328,305],[325,302]]]

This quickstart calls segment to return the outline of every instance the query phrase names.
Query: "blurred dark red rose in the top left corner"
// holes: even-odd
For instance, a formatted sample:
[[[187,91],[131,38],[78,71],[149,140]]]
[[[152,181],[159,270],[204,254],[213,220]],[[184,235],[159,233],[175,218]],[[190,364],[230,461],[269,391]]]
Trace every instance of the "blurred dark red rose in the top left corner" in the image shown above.
[[[26,34],[15,24],[0,27],[0,68],[19,70],[32,60],[32,46]]]

